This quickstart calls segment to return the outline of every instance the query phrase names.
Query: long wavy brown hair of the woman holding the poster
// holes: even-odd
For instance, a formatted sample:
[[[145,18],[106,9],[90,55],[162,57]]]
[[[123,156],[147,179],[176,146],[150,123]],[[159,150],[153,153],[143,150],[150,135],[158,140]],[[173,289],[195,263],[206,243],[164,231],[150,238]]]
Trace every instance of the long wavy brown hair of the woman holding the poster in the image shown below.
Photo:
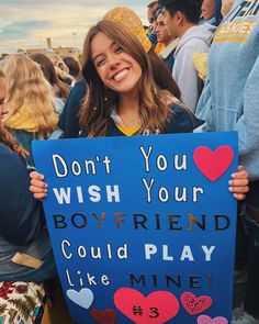
[[[91,42],[99,32],[113,40],[142,67],[138,133],[143,134],[147,130],[149,133],[162,132],[171,114],[168,104],[171,94],[155,83],[150,60],[138,40],[121,24],[109,20],[102,20],[91,27],[85,41],[82,76],[88,89],[79,114],[81,127],[90,137],[105,136],[112,107],[119,103],[117,93],[105,87],[91,58]]]

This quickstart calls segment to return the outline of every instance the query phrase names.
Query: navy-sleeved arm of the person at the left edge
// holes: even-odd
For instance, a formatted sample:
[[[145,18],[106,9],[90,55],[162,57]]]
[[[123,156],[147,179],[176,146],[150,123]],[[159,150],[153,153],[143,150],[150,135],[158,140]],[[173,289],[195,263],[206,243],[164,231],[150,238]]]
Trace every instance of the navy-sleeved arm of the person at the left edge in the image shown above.
[[[0,235],[14,245],[32,242],[45,223],[41,202],[29,190],[30,177],[22,159],[0,147]]]

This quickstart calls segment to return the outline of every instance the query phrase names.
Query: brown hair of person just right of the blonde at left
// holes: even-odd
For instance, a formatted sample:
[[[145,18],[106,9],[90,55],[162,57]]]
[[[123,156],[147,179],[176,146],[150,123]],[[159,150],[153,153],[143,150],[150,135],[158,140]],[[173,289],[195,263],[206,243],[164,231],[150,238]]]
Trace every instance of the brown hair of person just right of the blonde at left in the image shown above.
[[[45,78],[53,87],[55,96],[58,99],[63,100],[63,102],[66,101],[68,93],[70,91],[70,87],[57,77],[52,60],[45,54],[42,53],[31,54],[30,58],[41,66],[41,69]]]

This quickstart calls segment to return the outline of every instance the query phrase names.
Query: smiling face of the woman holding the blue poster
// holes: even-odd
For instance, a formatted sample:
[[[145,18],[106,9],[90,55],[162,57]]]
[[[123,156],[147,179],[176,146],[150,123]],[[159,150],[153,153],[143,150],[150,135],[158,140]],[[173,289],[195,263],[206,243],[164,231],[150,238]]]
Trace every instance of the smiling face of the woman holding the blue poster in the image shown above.
[[[140,65],[102,32],[91,41],[91,58],[99,77],[111,90],[120,94],[138,88]]]

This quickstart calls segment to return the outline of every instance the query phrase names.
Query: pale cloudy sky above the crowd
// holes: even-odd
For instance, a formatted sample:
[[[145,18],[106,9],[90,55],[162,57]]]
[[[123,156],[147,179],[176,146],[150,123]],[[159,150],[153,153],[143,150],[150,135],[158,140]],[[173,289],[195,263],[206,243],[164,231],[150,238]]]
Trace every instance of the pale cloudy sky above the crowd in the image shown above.
[[[88,29],[116,5],[133,9],[147,23],[151,0],[0,0],[0,54],[19,48],[82,47]]]

